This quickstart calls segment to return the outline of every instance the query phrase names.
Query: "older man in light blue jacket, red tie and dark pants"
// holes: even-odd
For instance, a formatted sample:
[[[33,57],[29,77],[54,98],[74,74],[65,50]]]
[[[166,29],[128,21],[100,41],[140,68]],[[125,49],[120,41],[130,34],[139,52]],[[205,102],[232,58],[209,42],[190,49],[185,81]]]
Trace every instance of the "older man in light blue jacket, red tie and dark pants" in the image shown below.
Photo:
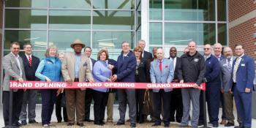
[[[157,49],[157,59],[151,62],[151,83],[170,83],[173,80],[173,61],[164,59],[162,48]],[[152,127],[161,125],[161,105],[163,105],[163,121],[165,127],[170,126],[170,91],[173,89],[153,89],[155,123]],[[161,102],[162,101],[162,102]]]

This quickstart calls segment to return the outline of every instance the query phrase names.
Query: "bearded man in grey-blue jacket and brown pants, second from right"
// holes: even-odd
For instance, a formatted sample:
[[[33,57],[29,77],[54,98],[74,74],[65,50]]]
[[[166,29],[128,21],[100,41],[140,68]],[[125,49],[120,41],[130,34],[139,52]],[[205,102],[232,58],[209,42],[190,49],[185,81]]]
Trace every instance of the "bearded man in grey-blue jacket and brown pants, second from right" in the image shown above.
[[[219,61],[220,68],[221,68],[221,88],[222,93],[224,96],[224,103],[225,103],[225,113],[227,116],[227,124],[225,124],[225,127],[232,127],[234,126],[234,115],[233,115],[233,94],[230,93],[230,84],[231,83],[231,75],[232,75],[232,65],[233,60],[236,59],[235,56],[233,56],[233,52],[230,47],[225,47],[223,50],[225,59],[222,59]],[[240,118],[238,117],[238,123],[241,123]]]

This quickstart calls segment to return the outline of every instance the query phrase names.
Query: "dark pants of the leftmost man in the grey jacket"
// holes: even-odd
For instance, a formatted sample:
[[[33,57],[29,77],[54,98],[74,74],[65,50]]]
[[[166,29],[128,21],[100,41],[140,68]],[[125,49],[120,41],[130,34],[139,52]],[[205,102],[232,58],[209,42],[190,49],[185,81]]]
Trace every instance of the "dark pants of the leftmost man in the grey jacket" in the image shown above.
[[[3,114],[4,114],[4,126],[9,125],[10,116],[10,105],[9,102],[12,100],[12,124],[18,124],[20,117],[20,111],[23,102],[23,90],[13,91],[12,99],[10,99],[10,91],[3,91]]]

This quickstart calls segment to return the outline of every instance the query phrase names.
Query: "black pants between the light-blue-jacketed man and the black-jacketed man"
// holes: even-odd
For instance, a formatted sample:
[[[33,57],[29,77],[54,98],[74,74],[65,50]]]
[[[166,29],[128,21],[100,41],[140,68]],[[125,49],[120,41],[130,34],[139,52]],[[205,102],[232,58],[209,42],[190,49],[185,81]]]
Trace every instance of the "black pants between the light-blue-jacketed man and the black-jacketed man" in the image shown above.
[[[182,94],[181,89],[173,89],[170,92],[170,121],[181,122],[182,118]]]

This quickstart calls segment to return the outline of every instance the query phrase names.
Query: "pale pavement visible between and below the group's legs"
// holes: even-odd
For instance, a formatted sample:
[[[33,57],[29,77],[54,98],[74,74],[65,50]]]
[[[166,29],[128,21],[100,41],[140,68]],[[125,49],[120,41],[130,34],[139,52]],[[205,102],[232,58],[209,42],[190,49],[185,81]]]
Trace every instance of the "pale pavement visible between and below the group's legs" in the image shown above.
[[[37,109],[36,109],[37,117],[36,117],[36,120],[39,121],[39,122],[41,122],[41,118],[40,118],[41,117],[41,108],[42,108],[41,105],[37,105]],[[2,106],[0,106],[0,127],[4,127],[4,119],[3,119],[3,113],[2,112],[3,112]],[[222,113],[222,109],[219,110],[219,113]],[[94,115],[94,113],[93,113],[93,105],[92,105],[91,106],[91,116],[90,116],[91,119],[93,119],[93,117],[94,117],[93,115]],[[221,117],[220,114],[219,114],[219,117]],[[236,117],[236,112],[235,112],[235,117]],[[113,113],[113,119],[114,119],[113,121],[114,121],[114,123],[106,123],[104,125],[104,127],[111,127],[111,128],[117,127],[114,124],[116,124],[116,121],[118,121],[118,118],[119,118],[118,105],[114,105],[114,113]],[[128,118],[128,110],[127,110],[126,118]],[[148,116],[148,119],[149,119],[149,116]],[[52,123],[53,127],[59,127],[59,128],[62,128],[62,127],[66,128],[67,127],[66,123],[57,123],[57,118],[55,116],[55,110],[53,111],[52,122],[53,122]],[[85,127],[100,127],[100,126],[94,125],[93,122],[90,122],[90,123],[85,122],[84,124],[85,124]],[[148,123],[144,123],[144,124],[137,124],[137,127],[151,127],[152,124],[153,123],[149,123],[149,122]],[[236,125],[238,125],[237,122],[236,122]],[[212,127],[211,124],[208,124],[208,126]],[[42,125],[40,123],[39,124],[33,124],[33,125],[32,124],[28,124],[25,127],[36,128],[36,127],[42,127]],[[78,126],[74,126],[74,128],[75,127],[78,127]],[[129,122],[126,122],[125,126],[121,126],[121,128],[124,128],[124,127],[129,127]],[[163,127],[163,124],[162,124],[161,127]],[[170,123],[170,127],[178,127],[178,123],[171,122]],[[224,125],[219,125],[219,127],[224,127]],[[256,127],[256,119],[252,119],[252,127]]]

